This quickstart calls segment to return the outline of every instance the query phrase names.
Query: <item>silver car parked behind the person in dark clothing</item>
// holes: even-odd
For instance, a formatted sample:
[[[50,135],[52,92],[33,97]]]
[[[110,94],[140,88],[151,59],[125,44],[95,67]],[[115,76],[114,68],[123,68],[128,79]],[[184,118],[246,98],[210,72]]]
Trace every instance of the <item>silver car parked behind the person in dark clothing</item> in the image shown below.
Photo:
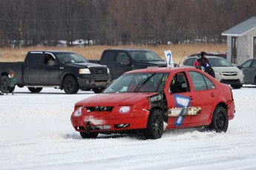
[[[188,56],[184,59],[183,67],[194,67],[194,61],[198,56]],[[233,89],[240,89],[243,86],[243,71],[234,67],[224,58],[215,56],[206,56],[214,69],[215,78],[223,84],[230,84]]]

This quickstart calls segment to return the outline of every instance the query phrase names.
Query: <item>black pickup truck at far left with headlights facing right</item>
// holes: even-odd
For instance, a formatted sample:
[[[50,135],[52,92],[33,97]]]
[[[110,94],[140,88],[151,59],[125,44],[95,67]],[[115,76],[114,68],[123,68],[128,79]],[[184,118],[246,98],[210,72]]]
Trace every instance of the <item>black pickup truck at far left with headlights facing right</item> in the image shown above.
[[[7,75],[15,72],[17,86],[41,92],[45,86],[76,94],[79,89],[102,92],[111,82],[108,67],[92,64],[75,52],[30,51],[24,62],[1,62],[1,92],[7,92]]]

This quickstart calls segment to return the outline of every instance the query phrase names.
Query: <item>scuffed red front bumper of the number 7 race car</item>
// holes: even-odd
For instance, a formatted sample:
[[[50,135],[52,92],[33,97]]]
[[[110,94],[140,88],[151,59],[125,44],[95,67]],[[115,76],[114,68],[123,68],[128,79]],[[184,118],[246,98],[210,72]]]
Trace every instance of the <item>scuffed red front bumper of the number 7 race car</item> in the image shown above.
[[[81,116],[71,115],[73,128],[78,132],[116,132],[131,129],[145,129],[148,110],[140,113],[93,112]]]

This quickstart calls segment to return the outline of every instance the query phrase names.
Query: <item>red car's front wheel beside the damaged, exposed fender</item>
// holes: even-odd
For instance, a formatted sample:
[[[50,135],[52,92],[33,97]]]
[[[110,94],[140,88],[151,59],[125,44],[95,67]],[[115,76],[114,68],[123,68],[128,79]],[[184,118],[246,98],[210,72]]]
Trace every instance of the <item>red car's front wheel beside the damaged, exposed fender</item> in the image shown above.
[[[144,130],[146,139],[159,139],[163,135],[163,115],[160,110],[154,109],[148,117],[147,128]]]

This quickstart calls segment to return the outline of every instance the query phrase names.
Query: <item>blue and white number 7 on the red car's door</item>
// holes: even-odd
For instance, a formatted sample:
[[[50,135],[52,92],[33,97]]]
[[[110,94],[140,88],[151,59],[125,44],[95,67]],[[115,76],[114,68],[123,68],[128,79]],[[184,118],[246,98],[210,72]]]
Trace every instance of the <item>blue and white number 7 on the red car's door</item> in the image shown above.
[[[190,105],[190,98],[183,95],[174,95],[176,106],[183,108],[180,111],[180,115],[175,120],[175,126],[182,126],[184,121],[184,114],[187,112],[188,106]]]

